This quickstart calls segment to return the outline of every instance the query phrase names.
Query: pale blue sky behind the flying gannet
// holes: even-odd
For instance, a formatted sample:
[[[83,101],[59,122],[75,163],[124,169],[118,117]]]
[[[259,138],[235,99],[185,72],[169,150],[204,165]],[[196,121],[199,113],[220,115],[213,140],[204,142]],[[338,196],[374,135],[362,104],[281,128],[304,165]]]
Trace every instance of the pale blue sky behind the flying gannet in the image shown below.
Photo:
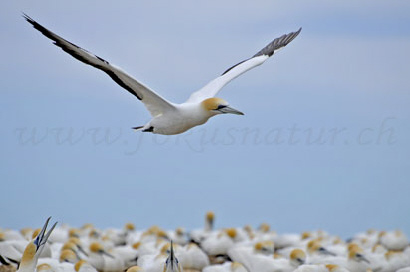
[[[410,4],[403,1],[7,1],[0,9],[1,227],[410,233]],[[177,136],[137,133],[143,105],[21,17],[120,66],[171,101],[272,39],[297,39]]]

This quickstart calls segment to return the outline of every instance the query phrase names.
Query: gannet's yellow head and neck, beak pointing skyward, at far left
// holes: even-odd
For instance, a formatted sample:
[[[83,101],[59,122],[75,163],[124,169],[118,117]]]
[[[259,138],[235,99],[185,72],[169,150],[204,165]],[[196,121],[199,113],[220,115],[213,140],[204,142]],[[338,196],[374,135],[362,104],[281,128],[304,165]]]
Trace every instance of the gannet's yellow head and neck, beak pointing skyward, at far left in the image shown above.
[[[50,219],[51,217],[47,219],[46,223],[44,224],[43,228],[40,230],[36,238],[29,242],[26,246],[21,258],[20,267],[18,269],[19,272],[34,272],[37,266],[37,260],[44,249],[47,239],[53,231],[54,227],[57,225],[57,222],[54,223],[51,229],[46,233],[47,225]]]

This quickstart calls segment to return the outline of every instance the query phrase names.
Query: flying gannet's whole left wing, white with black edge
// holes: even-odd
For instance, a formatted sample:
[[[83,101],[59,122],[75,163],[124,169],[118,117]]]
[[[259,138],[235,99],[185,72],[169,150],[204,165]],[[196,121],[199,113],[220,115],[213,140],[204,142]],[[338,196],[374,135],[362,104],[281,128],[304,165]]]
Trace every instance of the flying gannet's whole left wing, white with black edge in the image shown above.
[[[97,69],[100,69],[107,73],[115,82],[121,87],[135,95],[141,100],[152,116],[157,116],[165,111],[173,110],[174,106],[171,102],[162,98],[147,86],[138,82],[136,79],[129,76],[121,69],[111,65],[108,61],[88,52],[85,49],[61,38],[54,34],[47,28],[43,27],[28,15],[23,13],[23,17],[29,22],[35,29],[40,31],[44,36],[54,41],[54,44],[63,49],[65,52],[78,59],[85,64],[91,65]]]

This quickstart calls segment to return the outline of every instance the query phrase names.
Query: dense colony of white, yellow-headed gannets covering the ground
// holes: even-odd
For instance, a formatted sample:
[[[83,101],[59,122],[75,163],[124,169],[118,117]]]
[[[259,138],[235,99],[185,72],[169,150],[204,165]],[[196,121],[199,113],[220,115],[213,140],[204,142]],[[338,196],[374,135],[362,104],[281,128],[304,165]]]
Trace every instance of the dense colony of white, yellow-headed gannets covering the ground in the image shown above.
[[[367,230],[347,241],[325,231],[278,234],[268,224],[215,229],[99,229],[67,224],[0,226],[0,272],[410,272],[400,230]]]

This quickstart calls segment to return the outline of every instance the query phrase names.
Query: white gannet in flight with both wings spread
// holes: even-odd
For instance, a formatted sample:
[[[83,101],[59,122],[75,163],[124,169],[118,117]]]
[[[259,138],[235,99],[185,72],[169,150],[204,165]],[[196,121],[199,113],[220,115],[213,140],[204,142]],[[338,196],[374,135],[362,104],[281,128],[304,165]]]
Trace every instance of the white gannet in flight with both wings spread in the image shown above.
[[[185,103],[175,104],[161,97],[106,60],[54,34],[26,14],[23,16],[35,29],[53,40],[55,45],[79,61],[107,73],[116,83],[144,103],[152,119],[144,126],[135,127],[134,129],[164,135],[183,133],[190,128],[206,123],[209,118],[218,114],[231,113],[243,115],[242,112],[231,108],[228,102],[221,98],[216,98],[215,95],[234,78],[264,63],[275,51],[286,46],[296,38],[301,31],[299,29],[296,32],[291,32],[274,39],[253,57],[232,66],[202,89],[192,93]]]

